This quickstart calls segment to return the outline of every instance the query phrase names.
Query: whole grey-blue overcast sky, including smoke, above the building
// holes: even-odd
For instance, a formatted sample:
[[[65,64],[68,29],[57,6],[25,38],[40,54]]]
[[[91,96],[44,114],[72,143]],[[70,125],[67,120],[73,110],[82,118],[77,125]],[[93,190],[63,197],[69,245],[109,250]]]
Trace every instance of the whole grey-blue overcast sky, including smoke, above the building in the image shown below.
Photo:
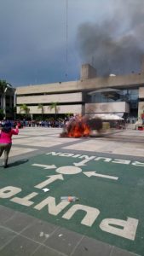
[[[139,72],[143,0],[0,0],[0,79],[14,87]]]

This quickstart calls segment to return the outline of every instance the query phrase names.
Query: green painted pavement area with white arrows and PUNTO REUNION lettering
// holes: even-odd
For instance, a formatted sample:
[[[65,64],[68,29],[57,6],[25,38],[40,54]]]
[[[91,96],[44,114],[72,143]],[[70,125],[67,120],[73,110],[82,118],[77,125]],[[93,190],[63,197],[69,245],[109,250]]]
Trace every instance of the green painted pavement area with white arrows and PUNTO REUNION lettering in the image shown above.
[[[129,161],[129,158],[128,161],[121,161],[120,159],[96,160],[96,157],[88,160],[88,157],[90,156],[80,159],[74,155],[68,156],[68,154],[67,156],[43,154],[27,161],[17,162],[8,169],[1,168],[0,204],[130,252],[144,255],[143,163],[135,166],[133,163],[135,164],[136,161]],[[77,165],[84,160],[86,160],[84,166]],[[93,176],[88,177],[84,172],[92,172]],[[96,173],[110,177],[96,177]],[[118,177],[118,179],[112,177]],[[46,180],[48,184],[43,183]],[[21,191],[10,195],[10,189],[3,189],[9,186],[20,188]],[[38,186],[41,189],[38,189]],[[49,188],[49,191],[44,192],[43,188]],[[59,213],[56,213],[55,209],[58,207],[51,208],[50,206],[54,204],[58,206],[60,196],[65,195],[74,195],[79,198],[79,201],[69,204],[66,202],[66,207],[61,210],[59,207]],[[24,197],[27,198],[26,202],[29,206],[22,205]],[[51,203],[49,207],[48,204],[43,207],[42,202],[45,202],[47,198],[50,198]],[[78,207],[78,205],[86,207],[87,210],[91,207],[89,216],[84,210],[78,210],[71,218],[66,219],[68,210],[71,209],[72,212],[73,207]],[[102,224],[106,224],[104,220],[107,218],[112,219],[111,227],[118,231],[118,234],[113,234],[110,226],[108,231],[102,230]],[[121,221],[126,224],[128,218],[135,220],[135,224],[137,221],[137,225],[134,224],[135,229],[131,225],[132,231],[128,229],[126,233],[123,233],[124,226],[121,225]],[[85,223],[83,223],[84,219],[86,219]],[[114,224],[113,219],[120,220],[120,223]],[[134,233],[133,238],[129,233]],[[123,234],[128,237],[122,236]]]

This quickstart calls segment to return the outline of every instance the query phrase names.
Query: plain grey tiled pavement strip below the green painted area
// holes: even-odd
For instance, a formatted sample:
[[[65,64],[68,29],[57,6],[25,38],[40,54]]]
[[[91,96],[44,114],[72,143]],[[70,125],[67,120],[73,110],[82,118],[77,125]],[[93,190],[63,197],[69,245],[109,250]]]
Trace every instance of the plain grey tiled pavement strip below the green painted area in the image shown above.
[[[118,247],[0,207],[0,255],[135,256]]]

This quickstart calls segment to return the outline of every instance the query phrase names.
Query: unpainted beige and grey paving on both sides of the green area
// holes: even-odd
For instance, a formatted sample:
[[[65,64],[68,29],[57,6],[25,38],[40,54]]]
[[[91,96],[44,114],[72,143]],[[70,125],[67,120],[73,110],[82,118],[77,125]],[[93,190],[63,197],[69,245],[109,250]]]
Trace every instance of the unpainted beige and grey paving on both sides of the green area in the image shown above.
[[[60,131],[60,128],[41,127],[20,129],[19,136],[13,139],[9,164],[49,150],[64,152],[71,150],[82,154],[103,154],[107,157],[121,155],[123,159],[129,155],[130,159],[136,157],[137,160],[144,160],[144,131],[127,129],[107,134],[105,137],[77,139],[60,138]],[[2,163],[3,157],[1,166]],[[42,227],[43,234],[39,236]],[[60,234],[63,234],[65,239],[60,240]],[[132,256],[135,254],[0,206],[0,255]]]

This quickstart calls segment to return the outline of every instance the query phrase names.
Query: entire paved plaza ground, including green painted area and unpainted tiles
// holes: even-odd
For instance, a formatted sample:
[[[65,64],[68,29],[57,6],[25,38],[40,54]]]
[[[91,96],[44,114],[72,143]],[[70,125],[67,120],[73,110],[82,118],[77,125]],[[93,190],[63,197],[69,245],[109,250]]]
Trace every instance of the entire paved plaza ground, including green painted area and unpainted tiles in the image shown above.
[[[144,131],[26,127],[0,162],[0,255],[144,255]],[[60,201],[60,196],[78,201]]]

